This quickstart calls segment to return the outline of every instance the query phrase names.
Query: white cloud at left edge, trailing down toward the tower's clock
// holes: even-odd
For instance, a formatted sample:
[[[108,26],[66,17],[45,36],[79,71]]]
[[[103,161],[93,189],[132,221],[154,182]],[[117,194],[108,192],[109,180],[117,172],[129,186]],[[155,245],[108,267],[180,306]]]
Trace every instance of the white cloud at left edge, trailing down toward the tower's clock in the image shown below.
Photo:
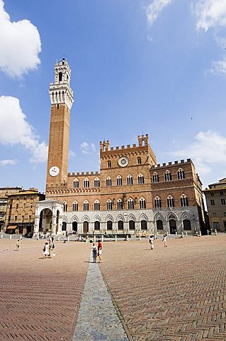
[[[45,142],[39,142],[39,137],[35,134],[33,126],[26,120],[26,115],[23,114],[17,98],[0,97],[0,126],[1,144],[21,144],[33,154],[30,162],[46,161],[47,145]]]

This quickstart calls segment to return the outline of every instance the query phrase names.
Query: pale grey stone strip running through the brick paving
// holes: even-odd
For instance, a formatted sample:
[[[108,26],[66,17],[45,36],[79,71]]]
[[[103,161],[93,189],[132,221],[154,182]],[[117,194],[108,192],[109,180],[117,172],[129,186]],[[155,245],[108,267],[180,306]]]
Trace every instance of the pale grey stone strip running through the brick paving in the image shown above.
[[[92,261],[92,256],[90,256]],[[89,263],[73,341],[128,341],[97,263]]]

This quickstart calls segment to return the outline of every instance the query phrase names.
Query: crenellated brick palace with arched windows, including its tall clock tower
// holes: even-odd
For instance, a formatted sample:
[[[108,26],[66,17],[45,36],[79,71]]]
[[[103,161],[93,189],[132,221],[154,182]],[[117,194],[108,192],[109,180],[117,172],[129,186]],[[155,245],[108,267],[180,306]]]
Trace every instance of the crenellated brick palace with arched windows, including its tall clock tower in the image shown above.
[[[45,200],[34,232],[169,234],[203,229],[202,183],[190,158],[157,163],[148,135],[137,144],[100,142],[100,171],[68,173],[69,120],[74,102],[64,58],[50,83],[50,141]]]

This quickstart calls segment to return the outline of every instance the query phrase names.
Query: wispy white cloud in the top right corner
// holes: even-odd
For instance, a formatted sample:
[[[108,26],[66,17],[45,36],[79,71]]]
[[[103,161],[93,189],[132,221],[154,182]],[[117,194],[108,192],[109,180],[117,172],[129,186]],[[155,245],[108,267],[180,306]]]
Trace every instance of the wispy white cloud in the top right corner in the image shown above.
[[[199,0],[193,5],[196,13],[196,28],[209,28],[226,26],[226,0]]]

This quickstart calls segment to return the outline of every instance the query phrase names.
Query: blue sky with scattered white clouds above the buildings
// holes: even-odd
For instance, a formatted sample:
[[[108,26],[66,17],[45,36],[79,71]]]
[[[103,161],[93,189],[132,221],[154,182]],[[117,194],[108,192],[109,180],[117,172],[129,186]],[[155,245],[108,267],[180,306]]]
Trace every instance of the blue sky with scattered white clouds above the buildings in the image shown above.
[[[69,171],[149,134],[158,163],[225,178],[226,0],[0,0],[0,186],[45,190],[54,64],[72,69]]]

